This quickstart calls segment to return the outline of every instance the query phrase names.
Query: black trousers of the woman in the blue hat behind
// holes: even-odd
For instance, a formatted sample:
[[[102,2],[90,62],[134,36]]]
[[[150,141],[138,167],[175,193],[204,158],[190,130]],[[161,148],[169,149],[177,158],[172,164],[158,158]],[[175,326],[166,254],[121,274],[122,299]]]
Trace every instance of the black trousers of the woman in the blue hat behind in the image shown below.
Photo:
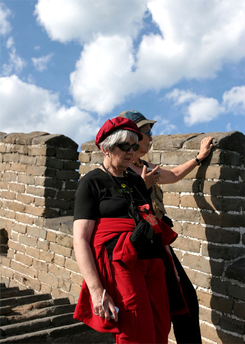
[[[171,316],[174,336],[178,344],[201,344],[199,306],[196,290],[174,254],[172,247],[170,249],[180,278],[179,282],[189,308],[189,314]]]

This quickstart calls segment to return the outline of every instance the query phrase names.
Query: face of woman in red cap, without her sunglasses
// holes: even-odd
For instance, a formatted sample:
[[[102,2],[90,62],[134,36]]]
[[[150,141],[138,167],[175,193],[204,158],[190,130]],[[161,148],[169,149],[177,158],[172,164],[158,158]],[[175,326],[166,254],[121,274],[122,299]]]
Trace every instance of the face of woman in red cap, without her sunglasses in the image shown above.
[[[129,139],[126,143],[134,144],[135,141],[133,139]],[[106,152],[106,155],[109,152]],[[125,170],[130,166],[131,160],[133,158],[133,148],[131,147],[128,152],[123,151],[117,146],[113,146],[111,151],[112,156],[112,166],[114,166],[117,170]],[[108,155],[110,157],[110,154]]]

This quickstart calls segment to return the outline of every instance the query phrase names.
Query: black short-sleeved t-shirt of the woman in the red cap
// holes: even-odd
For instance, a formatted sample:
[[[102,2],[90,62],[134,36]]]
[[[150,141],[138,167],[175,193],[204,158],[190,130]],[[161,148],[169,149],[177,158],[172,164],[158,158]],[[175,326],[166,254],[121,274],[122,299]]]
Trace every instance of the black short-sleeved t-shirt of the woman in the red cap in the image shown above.
[[[101,169],[95,169],[85,174],[79,180],[75,193],[74,220],[96,220],[101,217],[130,218],[128,215],[130,198],[127,185],[131,190],[135,205],[148,203],[153,211],[150,196],[141,176],[134,172],[126,172],[125,175],[126,177],[113,176],[118,185],[116,187],[110,175]],[[125,201],[119,188],[129,204]]]

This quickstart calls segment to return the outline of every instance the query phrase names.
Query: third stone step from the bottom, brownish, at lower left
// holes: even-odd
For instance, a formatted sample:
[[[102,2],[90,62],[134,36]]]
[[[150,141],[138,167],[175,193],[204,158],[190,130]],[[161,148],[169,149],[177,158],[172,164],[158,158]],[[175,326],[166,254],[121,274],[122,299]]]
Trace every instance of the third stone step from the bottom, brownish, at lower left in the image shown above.
[[[33,309],[25,315],[11,315],[7,316],[7,321],[9,324],[24,322],[28,320],[34,320],[37,318],[44,318],[53,315],[73,313],[75,309],[75,304],[51,306],[42,309]]]

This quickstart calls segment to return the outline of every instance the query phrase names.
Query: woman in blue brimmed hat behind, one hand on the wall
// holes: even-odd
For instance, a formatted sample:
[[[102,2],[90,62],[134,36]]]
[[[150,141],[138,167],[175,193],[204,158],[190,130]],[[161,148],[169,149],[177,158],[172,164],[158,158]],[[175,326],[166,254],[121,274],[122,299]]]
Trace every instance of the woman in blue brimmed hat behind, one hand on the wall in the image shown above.
[[[141,160],[141,157],[148,153],[150,148],[150,143],[152,141],[151,128],[155,120],[147,119],[144,115],[136,110],[124,111],[120,114],[123,118],[128,118],[133,120],[139,131],[143,135],[143,140],[140,142],[139,149],[134,153],[134,157],[130,164],[130,170],[140,174],[145,180],[147,189],[151,195],[151,200],[153,203],[153,208],[155,210],[156,216],[160,217],[164,222],[166,222],[170,227],[173,227],[172,221],[166,216],[166,210],[163,204],[163,195],[161,189],[156,183],[159,184],[169,184],[175,183],[182,179],[185,175],[191,172],[200,161],[205,159],[211,149],[213,148],[212,139],[209,136],[202,140],[200,145],[199,153],[191,160],[179,165],[171,170],[166,170],[162,167],[156,166],[148,161]],[[152,171],[147,172],[147,167],[151,168]],[[173,324],[174,335],[177,343],[201,343],[201,335],[199,328],[199,310],[198,301],[196,297],[196,290],[193,287],[191,281],[189,280],[187,274],[185,273],[181,263],[174,254],[172,248],[170,248],[172,253],[172,258],[177,269],[178,277],[180,279],[180,285],[187,301],[189,312],[186,314],[179,314],[178,312],[171,311],[171,318]],[[165,260],[166,265],[166,260]],[[166,279],[168,284],[169,293],[172,292],[172,280],[168,277],[169,274],[166,273]]]

